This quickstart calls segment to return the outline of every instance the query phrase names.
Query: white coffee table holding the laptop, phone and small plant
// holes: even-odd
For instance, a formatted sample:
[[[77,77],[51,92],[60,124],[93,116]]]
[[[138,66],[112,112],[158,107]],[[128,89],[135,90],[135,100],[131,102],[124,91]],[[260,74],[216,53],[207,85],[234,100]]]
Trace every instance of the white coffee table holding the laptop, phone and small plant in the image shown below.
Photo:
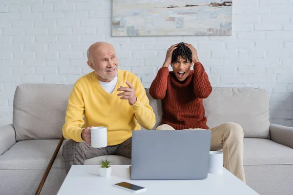
[[[129,165],[112,165],[109,177],[99,176],[98,165],[73,165],[58,195],[132,195],[114,187],[126,181],[146,188],[142,195],[258,195],[229,171],[202,180],[131,180]]]

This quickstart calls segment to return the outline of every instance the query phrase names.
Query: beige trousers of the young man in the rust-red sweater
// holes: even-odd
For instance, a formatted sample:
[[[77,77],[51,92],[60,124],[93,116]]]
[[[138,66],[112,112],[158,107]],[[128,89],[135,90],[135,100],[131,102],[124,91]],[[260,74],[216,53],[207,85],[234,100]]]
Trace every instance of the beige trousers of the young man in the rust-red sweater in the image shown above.
[[[173,127],[163,124],[157,130],[174,130]],[[189,129],[202,130],[202,129]],[[209,129],[211,131],[210,150],[223,149],[224,167],[243,182],[245,174],[243,168],[243,129],[233,122],[227,122]]]

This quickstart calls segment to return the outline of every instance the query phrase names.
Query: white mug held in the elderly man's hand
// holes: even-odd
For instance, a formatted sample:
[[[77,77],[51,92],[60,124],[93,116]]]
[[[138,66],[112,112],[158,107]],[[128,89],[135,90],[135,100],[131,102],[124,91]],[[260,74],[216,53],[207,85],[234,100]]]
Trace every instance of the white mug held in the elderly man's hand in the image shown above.
[[[104,148],[108,145],[107,127],[90,128],[91,147]]]

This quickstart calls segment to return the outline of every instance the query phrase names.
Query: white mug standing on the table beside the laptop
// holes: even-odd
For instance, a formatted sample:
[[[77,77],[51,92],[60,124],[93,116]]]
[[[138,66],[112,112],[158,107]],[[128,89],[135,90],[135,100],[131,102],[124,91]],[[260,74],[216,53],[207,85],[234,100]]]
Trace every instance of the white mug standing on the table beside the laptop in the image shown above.
[[[209,152],[209,173],[220,174],[223,172],[223,153],[220,151]]]

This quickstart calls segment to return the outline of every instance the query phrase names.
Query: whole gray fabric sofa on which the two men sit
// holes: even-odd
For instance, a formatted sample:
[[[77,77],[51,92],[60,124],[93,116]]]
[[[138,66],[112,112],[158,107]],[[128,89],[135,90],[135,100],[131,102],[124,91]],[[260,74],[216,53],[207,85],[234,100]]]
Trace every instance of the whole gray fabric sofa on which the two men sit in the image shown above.
[[[67,99],[72,85],[21,84],[14,97],[13,124],[0,127],[0,194],[33,195],[62,136]],[[156,126],[161,101],[152,99]],[[293,128],[269,122],[269,96],[254,88],[213,88],[204,99],[208,126],[239,123],[244,130],[244,165],[247,184],[261,195],[293,194]],[[62,150],[62,149],[61,149]],[[101,157],[86,160],[97,164]],[[114,164],[129,158],[110,156]],[[63,182],[59,152],[42,189],[56,194]]]

